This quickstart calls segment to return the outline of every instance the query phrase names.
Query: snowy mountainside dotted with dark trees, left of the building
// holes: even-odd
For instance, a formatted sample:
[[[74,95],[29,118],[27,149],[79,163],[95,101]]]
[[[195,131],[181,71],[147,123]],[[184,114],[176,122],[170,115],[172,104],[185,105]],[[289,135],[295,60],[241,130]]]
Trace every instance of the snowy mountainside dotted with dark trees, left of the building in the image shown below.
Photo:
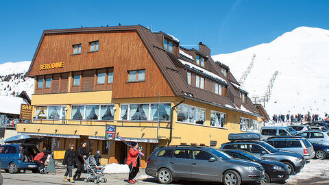
[[[34,79],[26,77],[30,61],[0,64],[0,95],[16,96],[23,90],[32,96]]]

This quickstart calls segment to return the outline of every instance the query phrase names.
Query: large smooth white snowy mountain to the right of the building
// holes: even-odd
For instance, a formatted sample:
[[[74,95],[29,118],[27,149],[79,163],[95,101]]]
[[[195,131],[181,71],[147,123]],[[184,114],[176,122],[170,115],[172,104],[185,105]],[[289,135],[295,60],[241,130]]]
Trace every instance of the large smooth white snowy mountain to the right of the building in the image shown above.
[[[234,53],[212,56],[230,66],[236,79],[256,55],[243,88],[249,97],[265,95],[278,71],[265,109],[273,114],[329,113],[329,30],[297,27],[269,43]],[[263,103],[262,103],[263,104]]]

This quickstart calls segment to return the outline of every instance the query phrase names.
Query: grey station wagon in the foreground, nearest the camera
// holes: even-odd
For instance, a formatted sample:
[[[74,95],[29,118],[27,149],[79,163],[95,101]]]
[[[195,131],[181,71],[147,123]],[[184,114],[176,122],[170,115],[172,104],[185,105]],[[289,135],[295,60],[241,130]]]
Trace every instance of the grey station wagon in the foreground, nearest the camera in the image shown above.
[[[239,185],[264,180],[264,168],[257,162],[236,160],[210,147],[160,147],[151,153],[145,169],[162,184],[173,180],[199,180]]]

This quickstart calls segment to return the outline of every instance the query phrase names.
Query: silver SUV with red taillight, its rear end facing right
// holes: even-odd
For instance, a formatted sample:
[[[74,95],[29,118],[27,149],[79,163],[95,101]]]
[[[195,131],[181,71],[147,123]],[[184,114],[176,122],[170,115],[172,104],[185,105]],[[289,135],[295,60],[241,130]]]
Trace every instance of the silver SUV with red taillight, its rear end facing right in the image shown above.
[[[273,137],[265,140],[266,143],[272,145],[276,149],[282,149],[287,151],[293,151],[295,153],[300,153],[304,156],[306,160],[312,159],[315,156],[315,151],[313,149],[312,144],[306,139],[302,137]]]

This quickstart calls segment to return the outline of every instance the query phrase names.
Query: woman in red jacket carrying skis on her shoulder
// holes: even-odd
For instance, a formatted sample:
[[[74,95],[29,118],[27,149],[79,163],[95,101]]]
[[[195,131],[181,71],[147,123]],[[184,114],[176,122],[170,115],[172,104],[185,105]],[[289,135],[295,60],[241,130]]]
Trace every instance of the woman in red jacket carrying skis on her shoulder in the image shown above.
[[[127,165],[129,166],[130,169],[128,183],[135,184],[136,183],[135,177],[141,165],[141,157],[138,154],[138,152],[140,151],[138,150],[139,147],[138,143],[136,142],[132,143],[132,147],[134,147],[136,150],[130,148],[128,152]]]

